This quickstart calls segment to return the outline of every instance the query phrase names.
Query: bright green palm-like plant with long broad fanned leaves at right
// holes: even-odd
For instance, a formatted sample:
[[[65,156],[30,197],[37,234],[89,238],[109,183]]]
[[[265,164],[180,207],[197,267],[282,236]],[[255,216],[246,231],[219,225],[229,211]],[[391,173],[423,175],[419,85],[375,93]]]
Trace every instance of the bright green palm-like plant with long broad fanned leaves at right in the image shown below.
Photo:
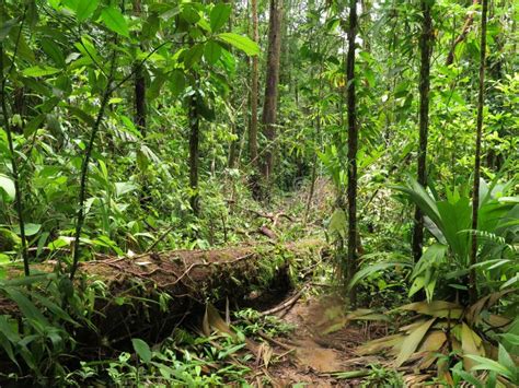
[[[519,208],[515,200],[506,197],[512,186],[514,181],[504,185],[494,181],[489,187],[485,181],[481,184],[482,201],[478,231],[475,233],[476,236],[483,237],[477,238],[480,256],[476,264],[478,272],[486,280],[484,284],[478,282],[482,289],[487,285],[492,290],[495,282],[505,287],[516,283],[517,260],[514,257],[517,255],[514,244],[518,234],[517,222],[514,220]],[[410,296],[425,290],[427,299],[432,301],[437,284],[443,284],[439,291],[440,295],[450,293],[447,287],[464,290],[466,284],[463,279],[469,272],[469,251],[473,233],[470,230],[472,213],[468,193],[460,193],[462,190],[458,189],[450,192],[447,189],[446,200],[435,199],[413,179],[410,179],[408,186],[397,189],[422,209],[426,215],[425,225],[437,240],[425,250],[414,267]],[[497,271],[482,271],[484,268]]]

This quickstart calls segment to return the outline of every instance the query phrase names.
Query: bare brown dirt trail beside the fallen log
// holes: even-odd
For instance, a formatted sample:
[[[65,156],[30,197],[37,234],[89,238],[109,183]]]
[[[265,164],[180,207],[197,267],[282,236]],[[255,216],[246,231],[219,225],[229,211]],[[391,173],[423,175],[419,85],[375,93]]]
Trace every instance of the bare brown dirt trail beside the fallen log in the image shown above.
[[[358,371],[376,363],[376,357],[358,357],[355,348],[379,337],[383,328],[351,322],[344,325],[343,306],[344,302],[337,296],[312,296],[299,299],[288,310],[282,319],[296,327],[290,338],[286,339],[293,352],[264,371],[269,384],[274,387],[291,387],[297,383],[308,387],[360,385],[360,379],[342,380],[334,377],[334,373]],[[282,314],[280,311],[278,316]],[[279,349],[276,351],[281,352]],[[261,386],[258,379],[256,385]]]

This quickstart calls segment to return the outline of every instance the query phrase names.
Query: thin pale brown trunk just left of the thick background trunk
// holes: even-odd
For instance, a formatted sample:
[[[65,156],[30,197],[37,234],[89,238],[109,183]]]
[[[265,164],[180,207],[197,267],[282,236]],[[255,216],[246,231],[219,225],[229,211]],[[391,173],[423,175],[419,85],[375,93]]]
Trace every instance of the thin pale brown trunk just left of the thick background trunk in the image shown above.
[[[257,27],[257,0],[251,0],[252,13],[252,39],[260,44],[260,33]],[[249,153],[253,166],[257,165],[257,56],[252,57],[251,74],[251,121],[249,127]]]

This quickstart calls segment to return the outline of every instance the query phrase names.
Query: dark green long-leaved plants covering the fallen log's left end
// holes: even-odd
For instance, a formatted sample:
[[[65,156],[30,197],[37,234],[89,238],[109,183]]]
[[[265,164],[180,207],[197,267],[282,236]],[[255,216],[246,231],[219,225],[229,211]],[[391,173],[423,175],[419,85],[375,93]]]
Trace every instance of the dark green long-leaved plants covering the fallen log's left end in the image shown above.
[[[1,280],[1,295],[18,313],[0,315],[0,354],[16,367],[0,376],[15,380],[19,372],[20,376],[28,373],[38,384],[59,381],[66,375],[66,357],[76,349],[74,330],[91,325],[96,297],[91,291],[90,295],[74,293],[68,278],[55,274]]]

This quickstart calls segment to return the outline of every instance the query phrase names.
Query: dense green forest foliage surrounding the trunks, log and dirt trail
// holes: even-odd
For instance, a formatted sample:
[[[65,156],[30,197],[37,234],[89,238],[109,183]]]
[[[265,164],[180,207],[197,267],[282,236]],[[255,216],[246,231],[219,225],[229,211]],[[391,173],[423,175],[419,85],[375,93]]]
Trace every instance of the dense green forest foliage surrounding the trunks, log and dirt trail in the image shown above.
[[[24,250],[21,224],[27,239],[24,259],[31,264],[51,260],[46,266],[59,263],[57,272],[70,263],[72,251],[80,252],[79,259],[90,260],[95,255],[122,257],[148,249],[207,249],[249,242],[258,237],[257,230],[264,225],[279,242],[319,235],[318,230],[325,226],[338,251],[347,248],[344,34],[348,26],[344,4],[296,1],[285,10],[278,136],[268,141],[263,131],[258,134],[260,157],[266,150],[276,155],[275,171],[269,172],[273,198],[272,203],[256,203],[251,186],[257,180],[262,161],[251,161],[246,150],[251,69],[245,56],[257,57],[263,74],[267,39],[256,44],[247,37],[251,22],[245,2],[138,3],[140,10],[137,2],[114,0],[7,0],[0,5],[0,83],[5,104],[0,109],[0,292],[21,314],[0,316],[0,348],[1,362],[12,362],[13,378],[32,374],[48,384],[45,377],[59,380],[68,374],[70,384],[217,385],[233,378],[241,381],[245,373],[245,368],[228,364],[221,371],[212,369],[216,358],[220,362],[240,353],[235,346],[242,343],[222,338],[210,339],[222,349],[212,349],[210,342],[189,343],[199,360],[178,349],[162,351],[134,339],[137,355],[119,353],[106,364],[82,360],[80,369],[66,371],[64,360],[69,360],[67,354],[77,345],[77,325],[90,327],[95,299],[105,286],[94,283],[82,287],[82,280],[72,284],[54,274],[8,283]],[[519,281],[515,176],[519,167],[519,73],[515,70],[517,56],[510,55],[516,48],[510,38],[514,4],[493,3],[488,21],[485,180],[477,231],[470,230],[468,188],[474,162],[477,13],[453,50],[453,62],[445,63],[472,10],[465,4],[451,0],[434,4],[428,188],[408,181],[396,196],[391,197],[388,190],[388,181],[416,174],[416,42],[423,20],[417,4],[365,1],[359,8],[357,208],[365,251],[359,251],[361,269],[349,286],[358,285],[361,299],[370,305],[401,306],[424,291],[431,303],[459,299],[468,308],[468,274],[475,269],[482,299],[505,293],[496,310],[487,308],[489,298],[478,309],[482,321],[476,326],[486,330],[495,326],[485,327],[491,320],[499,320],[494,313],[506,313],[510,318],[516,299],[509,291],[517,289]],[[265,5],[260,4],[262,37],[268,35]],[[145,125],[137,118],[138,80],[145,90]],[[260,90],[265,81],[261,75]],[[199,120],[197,187],[189,184],[193,108]],[[316,183],[313,197],[301,189],[310,186],[309,180]],[[296,193],[287,196],[288,190]],[[194,195],[201,199],[198,216],[189,205]],[[78,200],[81,197],[84,201]],[[304,215],[302,221],[307,201],[308,220]],[[426,250],[417,263],[411,262],[408,248],[414,204],[427,215],[428,230]],[[266,214],[277,208],[290,213],[293,221],[276,224],[251,212]],[[84,209],[84,222],[78,221],[80,209]],[[78,224],[81,233],[74,240]],[[478,256],[474,268],[469,268],[472,236],[477,237]],[[265,283],[272,280],[282,255],[287,254],[266,255],[258,261]],[[301,260],[305,261],[308,258]],[[345,260],[341,266],[346,269]],[[337,277],[326,262],[308,273],[291,271],[291,280],[319,274],[321,282]],[[170,297],[161,295],[163,309]],[[288,330],[270,318],[247,314],[251,324],[243,326],[246,332],[261,329],[278,334]],[[435,326],[446,317],[435,318],[427,332],[438,332],[441,328]],[[427,322],[420,324],[422,332]],[[465,324],[472,330],[474,325]],[[491,330],[493,343],[499,340],[517,355],[517,322],[510,324],[501,337]],[[463,325],[457,330],[460,338],[468,332]],[[423,343],[410,340],[407,344],[410,350]],[[130,346],[128,343],[125,350]],[[506,356],[501,358],[506,364]],[[397,380],[389,371],[371,369],[373,384]],[[461,367],[455,371],[460,381],[470,373]],[[498,379],[503,371],[496,366],[487,373],[485,385]]]

